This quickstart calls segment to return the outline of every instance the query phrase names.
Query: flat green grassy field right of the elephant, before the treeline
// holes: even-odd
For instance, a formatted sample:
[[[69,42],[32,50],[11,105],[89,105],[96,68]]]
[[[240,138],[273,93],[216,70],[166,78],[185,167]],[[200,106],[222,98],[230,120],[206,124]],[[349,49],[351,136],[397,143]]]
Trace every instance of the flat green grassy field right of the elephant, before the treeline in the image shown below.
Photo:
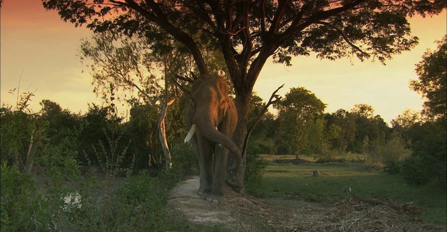
[[[427,222],[446,225],[445,187],[407,185],[397,175],[361,163],[288,164],[293,156],[264,156],[269,162],[265,169],[265,196],[296,197],[307,201],[349,199],[347,187],[359,196],[384,197],[399,203],[414,203],[423,210]],[[318,170],[321,176],[312,177]]]

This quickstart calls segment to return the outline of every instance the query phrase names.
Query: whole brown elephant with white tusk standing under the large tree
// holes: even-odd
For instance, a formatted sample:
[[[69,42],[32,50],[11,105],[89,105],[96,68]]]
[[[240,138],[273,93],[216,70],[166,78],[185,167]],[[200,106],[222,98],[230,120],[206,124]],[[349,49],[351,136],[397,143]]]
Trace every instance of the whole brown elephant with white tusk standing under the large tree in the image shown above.
[[[228,96],[228,84],[217,75],[201,75],[193,82],[191,100],[186,108],[185,143],[191,142],[200,167],[202,199],[223,199],[228,153],[235,155],[235,169],[242,155],[231,141],[237,125],[237,109]]]

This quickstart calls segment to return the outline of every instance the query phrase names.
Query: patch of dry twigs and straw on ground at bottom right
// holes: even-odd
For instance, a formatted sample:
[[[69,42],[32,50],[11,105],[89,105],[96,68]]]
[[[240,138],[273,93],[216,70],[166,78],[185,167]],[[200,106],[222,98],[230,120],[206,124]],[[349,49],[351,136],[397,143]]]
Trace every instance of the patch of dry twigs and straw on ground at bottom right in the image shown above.
[[[348,194],[349,200],[325,203],[236,196],[223,207],[240,219],[236,231],[446,231],[423,222],[411,203],[367,199],[352,190]]]

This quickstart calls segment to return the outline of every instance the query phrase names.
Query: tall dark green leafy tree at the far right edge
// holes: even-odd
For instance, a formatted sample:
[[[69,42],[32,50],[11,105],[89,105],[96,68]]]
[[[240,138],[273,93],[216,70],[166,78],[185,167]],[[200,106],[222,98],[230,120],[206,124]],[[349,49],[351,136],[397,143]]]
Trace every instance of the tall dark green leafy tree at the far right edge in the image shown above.
[[[411,118],[411,123],[397,127],[409,140],[411,157],[401,163],[400,171],[409,183],[423,185],[437,183],[446,186],[447,172],[447,37],[438,41],[437,50],[427,51],[416,64],[418,80],[411,88],[426,98],[423,114],[427,121],[421,123]],[[403,124],[403,123],[401,123]]]

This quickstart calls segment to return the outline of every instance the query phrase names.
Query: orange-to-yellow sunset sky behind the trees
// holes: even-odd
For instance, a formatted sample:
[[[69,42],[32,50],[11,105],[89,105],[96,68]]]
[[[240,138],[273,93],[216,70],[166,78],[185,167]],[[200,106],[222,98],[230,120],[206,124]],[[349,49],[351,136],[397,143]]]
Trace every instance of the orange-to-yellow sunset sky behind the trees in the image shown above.
[[[35,91],[31,103],[35,112],[44,99],[75,113],[85,112],[88,102],[101,103],[92,92],[89,70],[78,57],[80,40],[90,38],[91,31],[63,22],[56,11],[46,11],[41,0],[4,0],[0,20],[2,104],[15,105],[16,95],[8,91],[19,87],[20,77],[20,92]],[[350,110],[362,103],[390,123],[406,108],[421,109],[423,99],[411,91],[409,80],[417,79],[414,68],[423,53],[436,49],[434,40],[446,34],[446,11],[432,18],[413,18],[410,24],[419,45],[385,66],[371,61],[319,60],[312,55],[293,58],[292,67],[268,61],[254,90],[268,100],[281,84],[285,84],[281,95],[303,86],[327,104],[326,112]]]

